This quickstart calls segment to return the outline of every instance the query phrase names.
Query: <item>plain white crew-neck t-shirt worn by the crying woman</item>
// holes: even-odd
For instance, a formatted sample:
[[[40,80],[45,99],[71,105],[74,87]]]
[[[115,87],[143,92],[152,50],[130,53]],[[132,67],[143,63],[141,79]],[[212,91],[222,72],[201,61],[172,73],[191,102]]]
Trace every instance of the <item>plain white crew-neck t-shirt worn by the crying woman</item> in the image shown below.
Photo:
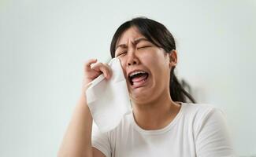
[[[94,125],[92,146],[107,157],[236,156],[224,113],[210,104],[182,103],[175,119],[160,130],[143,130],[132,113],[107,133]]]

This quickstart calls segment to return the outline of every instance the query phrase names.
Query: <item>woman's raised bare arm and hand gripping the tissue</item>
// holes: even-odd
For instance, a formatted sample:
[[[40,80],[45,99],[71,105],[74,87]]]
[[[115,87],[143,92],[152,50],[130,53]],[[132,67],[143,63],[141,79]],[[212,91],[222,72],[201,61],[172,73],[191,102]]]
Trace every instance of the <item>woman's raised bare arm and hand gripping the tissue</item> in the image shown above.
[[[110,78],[110,69],[106,64],[98,63],[91,68],[96,61],[88,60],[85,64],[82,92],[58,150],[58,157],[104,157],[102,152],[91,147],[92,117],[85,94],[88,83],[98,75],[104,73],[106,79]]]

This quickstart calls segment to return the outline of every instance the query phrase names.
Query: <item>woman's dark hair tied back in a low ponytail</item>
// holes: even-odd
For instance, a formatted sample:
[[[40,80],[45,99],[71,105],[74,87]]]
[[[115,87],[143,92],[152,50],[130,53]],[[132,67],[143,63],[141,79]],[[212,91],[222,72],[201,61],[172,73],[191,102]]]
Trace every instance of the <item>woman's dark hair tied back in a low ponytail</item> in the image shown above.
[[[124,22],[124,24],[121,24],[121,26],[117,28],[117,31],[113,35],[110,46],[110,53],[112,58],[115,57],[118,39],[124,33],[124,31],[128,30],[128,28],[130,27],[136,27],[139,32],[155,46],[165,49],[166,53],[172,53],[172,50],[176,49],[173,35],[163,24],[160,24],[155,20],[150,20],[146,17],[137,17]],[[176,75],[174,74],[174,69],[175,67],[173,67],[170,71],[169,82],[169,91],[172,100],[186,102],[187,97],[189,100],[191,100],[191,102],[195,103],[195,99],[184,90],[183,86],[181,86],[180,82],[176,78]]]

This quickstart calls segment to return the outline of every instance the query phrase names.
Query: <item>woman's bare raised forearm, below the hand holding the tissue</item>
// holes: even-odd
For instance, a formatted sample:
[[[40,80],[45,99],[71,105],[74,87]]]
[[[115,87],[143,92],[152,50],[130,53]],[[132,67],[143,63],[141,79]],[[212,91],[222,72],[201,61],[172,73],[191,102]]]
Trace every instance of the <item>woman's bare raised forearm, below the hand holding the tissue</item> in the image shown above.
[[[91,148],[92,118],[86,98],[80,97],[61,143],[58,157],[92,157]]]

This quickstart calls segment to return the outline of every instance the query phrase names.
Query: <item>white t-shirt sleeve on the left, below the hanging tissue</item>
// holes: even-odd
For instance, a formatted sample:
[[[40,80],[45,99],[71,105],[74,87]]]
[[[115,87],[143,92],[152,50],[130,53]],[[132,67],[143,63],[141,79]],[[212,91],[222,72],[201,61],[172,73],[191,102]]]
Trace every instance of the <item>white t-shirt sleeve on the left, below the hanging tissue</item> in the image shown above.
[[[92,126],[91,144],[92,147],[97,148],[100,152],[106,155],[106,157],[111,157],[108,133],[101,133],[95,125],[95,122],[93,122]]]

